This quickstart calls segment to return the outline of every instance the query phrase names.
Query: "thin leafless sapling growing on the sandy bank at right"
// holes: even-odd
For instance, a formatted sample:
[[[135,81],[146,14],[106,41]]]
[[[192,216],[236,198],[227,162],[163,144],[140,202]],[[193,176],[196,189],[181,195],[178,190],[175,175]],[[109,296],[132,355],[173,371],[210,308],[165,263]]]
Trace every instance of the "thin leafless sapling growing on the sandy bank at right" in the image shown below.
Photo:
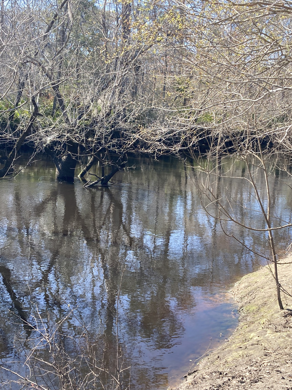
[[[277,216],[276,210],[272,210],[272,194],[270,189],[270,176],[274,175],[273,156],[271,153],[265,153],[262,150],[260,137],[256,138],[257,149],[242,150],[238,143],[235,156],[228,156],[225,162],[234,159],[233,166],[224,170],[224,158],[218,159],[218,154],[212,157],[208,155],[205,164],[201,164],[201,182],[198,183],[201,191],[201,203],[206,212],[217,218],[224,234],[234,238],[252,253],[267,260],[268,264],[273,264],[273,276],[276,286],[277,304],[280,310],[284,309],[281,292],[288,292],[281,286],[278,274],[279,260],[274,233],[292,226],[291,221],[283,220]],[[236,161],[242,161],[245,169],[244,174],[236,173],[234,165]],[[223,169],[222,169],[223,168]],[[226,171],[226,172],[225,172]],[[275,178],[276,179],[276,178]],[[238,200],[237,196],[230,188],[223,188],[222,182],[230,180],[236,183],[238,180],[246,183],[246,188],[250,197],[253,199],[253,207],[245,204],[244,198]],[[260,184],[259,184],[260,183]],[[236,186],[236,185],[235,185]],[[275,202],[276,203],[276,202]],[[247,215],[250,215],[247,217]],[[244,217],[242,217],[244,215]],[[256,218],[255,218],[255,215]],[[261,218],[260,218],[261,216]],[[258,221],[263,220],[259,227]],[[260,234],[263,243],[267,237],[269,252],[267,254],[262,249],[256,249],[243,242],[236,233],[230,233],[228,224],[236,225],[239,229],[246,229],[251,234]]]

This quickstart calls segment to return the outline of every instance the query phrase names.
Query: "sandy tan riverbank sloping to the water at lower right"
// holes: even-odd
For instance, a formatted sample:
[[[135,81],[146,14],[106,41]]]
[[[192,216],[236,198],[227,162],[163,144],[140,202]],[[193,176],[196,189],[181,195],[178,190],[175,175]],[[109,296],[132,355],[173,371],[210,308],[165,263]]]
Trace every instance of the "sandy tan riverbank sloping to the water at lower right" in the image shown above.
[[[292,293],[292,255],[281,260],[279,280]],[[292,390],[292,298],[277,306],[268,267],[245,275],[232,289],[239,324],[219,349],[197,365],[178,390]]]

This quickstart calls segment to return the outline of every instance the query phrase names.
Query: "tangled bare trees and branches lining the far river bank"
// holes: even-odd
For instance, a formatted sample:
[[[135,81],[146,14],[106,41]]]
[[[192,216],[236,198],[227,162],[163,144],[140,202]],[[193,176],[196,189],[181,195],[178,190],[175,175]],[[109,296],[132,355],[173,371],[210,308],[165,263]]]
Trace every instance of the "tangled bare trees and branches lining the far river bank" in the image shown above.
[[[1,176],[24,144],[65,180],[128,153],[260,138],[290,154],[291,13],[284,0],[2,1]]]

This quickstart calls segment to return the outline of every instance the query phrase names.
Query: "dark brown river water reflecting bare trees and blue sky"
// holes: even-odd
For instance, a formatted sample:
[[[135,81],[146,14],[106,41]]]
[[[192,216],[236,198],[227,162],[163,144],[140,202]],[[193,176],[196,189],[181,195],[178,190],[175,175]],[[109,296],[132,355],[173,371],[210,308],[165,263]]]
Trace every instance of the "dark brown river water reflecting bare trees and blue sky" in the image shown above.
[[[222,167],[232,170],[228,176],[244,174],[241,163],[232,163],[226,160]],[[99,167],[94,169],[98,174]],[[92,340],[103,346],[96,353],[105,370],[111,370],[110,356],[118,345],[125,383],[126,368],[131,367],[131,389],[166,390],[228,337],[237,325],[228,289],[263,260],[226,236],[218,220],[202,209],[199,176],[191,161],[145,158],[114,176],[117,184],[88,190],[78,178],[74,184],[55,182],[53,164],[38,159],[15,178],[2,180],[4,367],[27,374],[25,353],[39,338],[23,320],[40,326],[42,318],[45,328],[68,315],[59,331],[80,340],[86,327]],[[259,176],[260,188],[263,180]],[[271,176],[271,192],[277,215],[291,220],[292,191],[282,184],[285,180],[290,178]],[[235,203],[254,210],[247,213],[239,207],[239,218],[261,226],[258,206],[243,180],[227,177],[219,186],[233,194]],[[263,233],[228,224],[226,228],[245,245],[267,248]],[[290,235],[283,231],[276,239],[287,242]],[[69,344],[64,342],[63,348],[74,356],[74,343]],[[45,358],[47,352],[39,353]],[[15,379],[6,371],[0,377],[2,383]]]

